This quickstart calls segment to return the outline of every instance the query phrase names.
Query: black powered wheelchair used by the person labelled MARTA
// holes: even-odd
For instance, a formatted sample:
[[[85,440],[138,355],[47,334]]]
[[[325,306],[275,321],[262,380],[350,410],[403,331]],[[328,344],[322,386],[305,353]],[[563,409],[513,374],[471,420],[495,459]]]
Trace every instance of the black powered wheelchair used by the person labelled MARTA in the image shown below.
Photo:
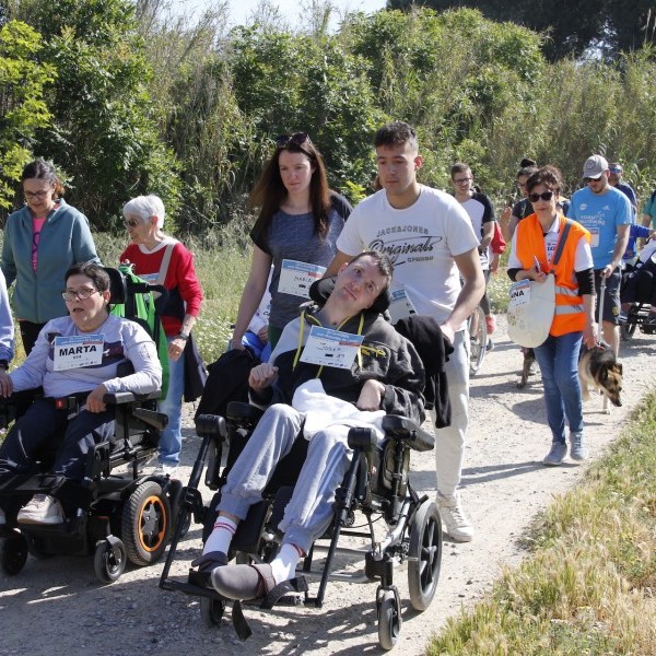
[[[116,269],[107,272],[112,304],[128,306],[136,294],[152,291],[145,282],[126,279]],[[131,373],[131,364],[126,364],[119,371],[121,376]],[[51,446],[37,454],[34,473],[0,479],[0,496],[7,505],[7,524],[0,526],[0,569],[4,574],[19,574],[28,554],[93,554],[97,578],[112,583],[125,572],[128,561],[149,565],[163,557],[183,485],[169,477],[140,473],[143,464],[156,455],[160,431],[167,423],[166,415],[156,411],[159,397],[160,391],[105,395],[105,403],[116,407],[115,434],[89,452],[82,481],[48,473],[55,457]],[[55,403],[72,417],[80,400],[67,397]],[[0,426],[7,427],[13,419],[15,403],[8,399],[0,405]],[[21,506],[37,493],[60,500],[66,511],[62,524],[16,522]]]

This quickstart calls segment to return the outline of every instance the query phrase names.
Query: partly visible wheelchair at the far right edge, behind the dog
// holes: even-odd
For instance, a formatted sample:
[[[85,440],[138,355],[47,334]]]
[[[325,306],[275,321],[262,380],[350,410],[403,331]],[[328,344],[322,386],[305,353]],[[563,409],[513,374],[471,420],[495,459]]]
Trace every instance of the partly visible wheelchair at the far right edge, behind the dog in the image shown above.
[[[648,323],[649,307],[656,304],[656,262],[653,258],[624,271],[620,300],[631,304],[626,320],[620,324],[620,335],[624,341],[635,335],[639,326],[644,335],[656,335],[656,326]]]

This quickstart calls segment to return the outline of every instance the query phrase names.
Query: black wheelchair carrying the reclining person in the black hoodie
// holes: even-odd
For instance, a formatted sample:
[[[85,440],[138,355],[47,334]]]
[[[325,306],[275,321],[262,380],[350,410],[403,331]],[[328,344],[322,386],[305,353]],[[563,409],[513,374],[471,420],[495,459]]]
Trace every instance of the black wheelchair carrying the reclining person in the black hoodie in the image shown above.
[[[220,499],[216,492],[209,506],[204,506],[198,485],[206,471],[204,483],[218,491],[225,483],[227,471],[236,460],[251,434],[261,410],[247,403],[233,401],[227,406],[225,418],[200,415],[196,430],[201,445],[194,464],[188,485],[184,489],[176,530],[160,579],[165,590],[180,591],[200,597],[201,618],[206,625],[219,625],[229,600],[211,586],[209,573],[189,570],[186,581],[169,577],[180,528],[189,524],[189,517],[203,525],[203,541],[209,537]],[[434,448],[433,435],[422,431],[402,417],[383,418],[385,438],[378,442],[370,429],[351,429],[349,446],[353,457],[341,487],[336,492],[335,514],[331,526],[313,544],[297,570],[296,578],[286,582],[282,596],[262,600],[232,602],[232,621],[241,640],[251,630],[245,619],[242,605],[270,609],[274,604],[308,605],[320,608],[324,604],[329,579],[354,583],[378,582],[375,601],[378,619],[378,641],[390,649],[398,641],[401,630],[401,600],[394,583],[394,571],[401,563],[408,565],[410,605],[425,610],[434,595],[442,562],[442,522],[436,505],[425,495],[419,496],[409,481],[410,454]],[[225,467],[222,469],[223,447],[227,446]],[[239,563],[267,562],[271,560],[281,539],[278,524],[293,492],[295,476],[304,461],[306,440],[296,440],[291,453],[279,464],[262,493],[262,501],[250,507],[246,519],[239,523],[231,544],[229,558]],[[207,465],[207,468],[206,468]],[[356,514],[362,516],[367,530],[359,530]],[[382,523],[377,523],[383,519]],[[385,535],[375,532],[375,525],[385,525]],[[342,547],[340,538],[364,539],[360,549]],[[325,558],[317,559],[317,554]],[[353,572],[335,572],[337,554],[358,557],[363,566]],[[311,596],[308,582],[318,582],[316,596]],[[278,587],[281,587],[278,586]]]

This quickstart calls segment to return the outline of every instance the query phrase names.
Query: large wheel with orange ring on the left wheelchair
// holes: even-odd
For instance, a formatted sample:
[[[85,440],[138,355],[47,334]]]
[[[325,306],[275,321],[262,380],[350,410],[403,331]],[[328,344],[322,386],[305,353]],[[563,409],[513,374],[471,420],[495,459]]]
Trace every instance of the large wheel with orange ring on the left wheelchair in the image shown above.
[[[121,538],[136,565],[162,558],[171,532],[171,505],[159,483],[147,481],[130,494],[122,514]]]

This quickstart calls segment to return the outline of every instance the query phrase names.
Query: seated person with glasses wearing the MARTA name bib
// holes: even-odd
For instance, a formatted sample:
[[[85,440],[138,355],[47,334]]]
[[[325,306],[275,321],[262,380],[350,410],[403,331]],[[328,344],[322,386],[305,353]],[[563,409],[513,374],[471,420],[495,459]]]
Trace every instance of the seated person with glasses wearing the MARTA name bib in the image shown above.
[[[25,362],[7,374],[0,371],[0,396],[43,386],[37,399],[16,420],[0,447],[0,477],[35,471],[35,458],[47,445],[57,445],[51,472],[67,479],[84,476],[85,454],[114,435],[113,409],[105,394],[159,389],[162,367],[148,332],[134,321],[110,315],[109,276],[98,265],[74,265],[66,273],[63,300],[69,316],[48,321]],[[118,377],[129,360],[136,373]],[[75,397],[79,412],[59,409],[58,399]],[[1,500],[0,500],[1,503]],[[0,508],[0,524],[5,523]],[[17,515],[19,523],[60,524],[61,503],[36,494]]]

